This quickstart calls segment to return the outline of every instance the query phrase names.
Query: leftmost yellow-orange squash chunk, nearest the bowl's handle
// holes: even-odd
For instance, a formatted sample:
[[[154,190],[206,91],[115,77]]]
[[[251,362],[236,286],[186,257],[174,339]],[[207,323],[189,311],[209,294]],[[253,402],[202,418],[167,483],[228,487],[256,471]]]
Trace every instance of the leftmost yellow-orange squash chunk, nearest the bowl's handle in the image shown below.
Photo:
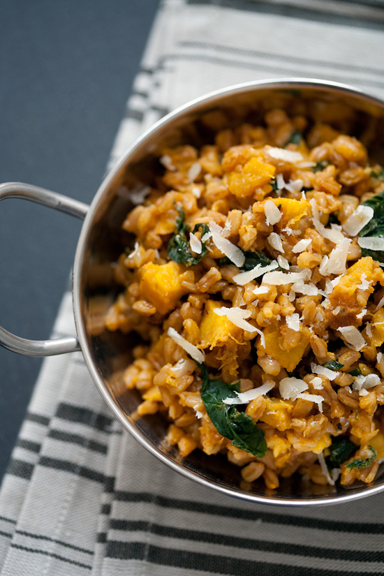
[[[183,272],[184,268],[172,261],[145,264],[140,272],[140,295],[152,302],[161,314],[170,312],[185,292],[181,280]]]

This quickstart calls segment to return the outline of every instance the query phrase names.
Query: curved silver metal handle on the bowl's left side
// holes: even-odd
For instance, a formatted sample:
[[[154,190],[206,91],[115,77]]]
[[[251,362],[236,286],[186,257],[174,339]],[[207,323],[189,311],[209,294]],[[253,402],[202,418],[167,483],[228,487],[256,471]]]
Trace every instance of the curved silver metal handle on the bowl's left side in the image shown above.
[[[89,206],[83,202],[78,202],[78,200],[67,198],[67,196],[39,188],[38,186],[22,184],[21,182],[0,184],[0,200],[4,198],[31,200],[31,202],[37,202],[72,216],[77,216],[77,218],[82,220],[89,210]],[[15,336],[15,334],[4,330],[1,326],[0,346],[27,356],[53,356],[76,352],[81,349],[77,337],[57,338],[54,340],[28,340]]]

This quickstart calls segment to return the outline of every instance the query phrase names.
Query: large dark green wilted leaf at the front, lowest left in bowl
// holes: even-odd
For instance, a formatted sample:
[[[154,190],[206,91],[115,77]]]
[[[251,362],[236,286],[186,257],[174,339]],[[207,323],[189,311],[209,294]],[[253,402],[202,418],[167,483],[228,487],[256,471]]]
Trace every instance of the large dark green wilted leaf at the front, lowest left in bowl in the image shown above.
[[[225,398],[237,397],[239,383],[230,386],[216,378],[209,378],[205,364],[199,364],[202,372],[201,397],[209,418],[222,436],[232,441],[232,445],[259,458],[265,457],[267,443],[264,432],[252,418],[239,412],[235,405],[225,404]]]

